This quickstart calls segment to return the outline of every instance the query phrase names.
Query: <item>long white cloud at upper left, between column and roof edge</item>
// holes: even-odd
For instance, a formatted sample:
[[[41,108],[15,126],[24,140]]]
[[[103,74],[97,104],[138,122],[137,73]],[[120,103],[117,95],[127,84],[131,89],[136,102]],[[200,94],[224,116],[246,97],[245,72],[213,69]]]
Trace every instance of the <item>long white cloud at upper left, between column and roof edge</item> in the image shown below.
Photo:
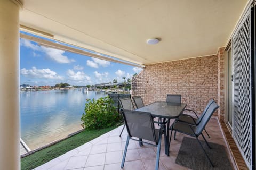
[[[34,51],[43,52],[46,54],[46,56],[48,58],[50,58],[50,60],[53,60],[57,63],[63,64],[63,63],[75,62],[74,59],[69,59],[67,56],[63,55],[63,53],[65,53],[65,51],[48,48],[48,47],[43,47],[43,46],[38,46],[38,45],[31,43],[31,41],[29,41],[27,39],[20,39],[20,45],[25,46],[27,48],[31,48]]]

